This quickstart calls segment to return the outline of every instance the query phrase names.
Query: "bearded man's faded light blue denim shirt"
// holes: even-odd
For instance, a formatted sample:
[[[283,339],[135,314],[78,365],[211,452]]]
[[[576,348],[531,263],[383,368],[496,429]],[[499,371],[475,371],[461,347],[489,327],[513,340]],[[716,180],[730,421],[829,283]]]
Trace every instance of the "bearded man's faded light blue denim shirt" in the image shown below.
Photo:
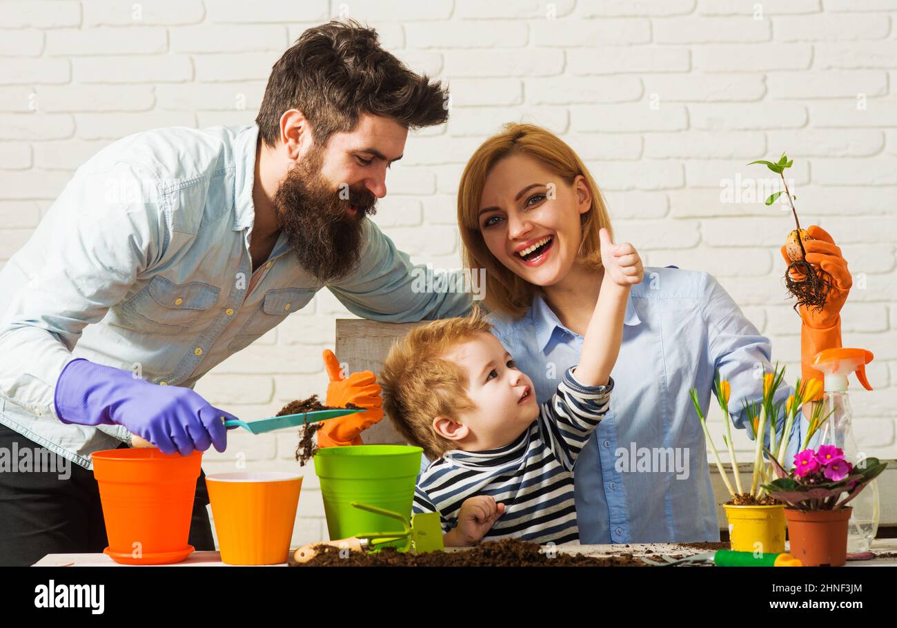
[[[91,468],[92,451],[130,435],[58,420],[53,393],[66,363],[83,357],[193,388],[308,304],[323,286],[283,232],[252,271],[257,139],[255,125],[157,129],[75,172],[0,273],[0,423]],[[470,294],[415,290],[409,257],[364,225],[360,265],[326,286],[346,308],[393,322],[469,310]]]

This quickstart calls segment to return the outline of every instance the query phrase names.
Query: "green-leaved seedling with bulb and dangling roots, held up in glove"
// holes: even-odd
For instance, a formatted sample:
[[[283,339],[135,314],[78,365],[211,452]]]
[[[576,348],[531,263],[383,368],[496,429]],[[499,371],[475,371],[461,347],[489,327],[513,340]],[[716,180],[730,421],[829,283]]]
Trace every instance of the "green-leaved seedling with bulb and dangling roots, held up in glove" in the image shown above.
[[[751,161],[747,165],[754,163],[762,163],[764,166],[775,172],[782,179],[782,185],[785,189],[774,192],[766,199],[766,205],[772,205],[781,195],[788,198],[788,204],[791,205],[791,213],[794,214],[794,222],[797,226],[795,231],[788,233],[788,242],[785,249],[788,252],[788,258],[791,260],[788,269],[785,271],[785,286],[788,292],[797,298],[794,308],[797,310],[801,305],[807,308],[813,308],[816,311],[822,311],[825,301],[832,290],[832,275],[826,273],[822,268],[816,269],[812,264],[806,261],[806,249],[804,242],[812,240],[806,231],[800,228],[800,221],[797,219],[797,209],[795,209],[794,201],[797,196],[793,196],[788,189],[788,181],[785,180],[785,170],[791,167],[792,160],[788,159],[785,153],[779,158],[779,161]]]

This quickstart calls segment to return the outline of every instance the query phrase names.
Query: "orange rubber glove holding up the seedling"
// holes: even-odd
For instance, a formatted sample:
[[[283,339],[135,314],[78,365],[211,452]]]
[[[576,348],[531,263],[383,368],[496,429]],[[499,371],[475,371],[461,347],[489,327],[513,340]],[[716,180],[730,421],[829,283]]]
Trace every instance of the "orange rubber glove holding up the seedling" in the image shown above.
[[[832,291],[829,292],[822,311],[809,310],[804,305],[797,309],[802,321],[800,327],[801,380],[819,379],[822,383],[822,371],[816,371],[810,366],[810,362],[813,362],[816,353],[823,349],[841,346],[840,310],[844,301],[847,301],[853,279],[847,268],[847,260],[841,255],[840,249],[835,246],[832,236],[822,227],[814,224],[810,225],[806,232],[814,238],[814,240],[804,242],[806,261],[817,269],[822,268],[826,273],[832,275]],[[788,258],[784,246],[781,251],[786,263],[790,264],[791,260]],[[792,273],[791,278],[797,281],[802,276],[799,273]],[[819,399],[822,395],[823,390],[820,387],[819,394],[814,399]]]

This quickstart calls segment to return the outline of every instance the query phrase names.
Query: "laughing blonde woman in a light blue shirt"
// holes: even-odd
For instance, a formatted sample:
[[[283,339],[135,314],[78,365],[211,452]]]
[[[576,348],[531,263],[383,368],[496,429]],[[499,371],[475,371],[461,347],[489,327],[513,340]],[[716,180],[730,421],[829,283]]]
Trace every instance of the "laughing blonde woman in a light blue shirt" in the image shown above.
[[[548,401],[578,360],[602,283],[598,233],[613,229],[597,183],[559,137],[509,124],[467,162],[457,203],[465,265],[486,269],[493,333]],[[711,275],[646,267],[627,302],[610,411],[574,470],[580,542],[718,541],[688,390],[706,409],[720,371],[744,428],[737,410],[762,397],[758,367],[771,371],[770,358],[770,341]]]

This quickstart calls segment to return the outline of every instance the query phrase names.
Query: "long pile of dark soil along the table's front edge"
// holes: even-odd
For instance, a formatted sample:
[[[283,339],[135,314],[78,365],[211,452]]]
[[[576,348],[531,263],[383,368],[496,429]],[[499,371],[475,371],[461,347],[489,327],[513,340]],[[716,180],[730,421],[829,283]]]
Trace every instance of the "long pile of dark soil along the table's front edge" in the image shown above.
[[[592,557],[555,552],[551,558],[539,551],[539,545],[514,538],[483,541],[472,549],[460,552],[411,554],[384,547],[376,554],[344,553],[333,545],[317,545],[318,554],[308,563],[294,567],[647,567],[632,554]]]

